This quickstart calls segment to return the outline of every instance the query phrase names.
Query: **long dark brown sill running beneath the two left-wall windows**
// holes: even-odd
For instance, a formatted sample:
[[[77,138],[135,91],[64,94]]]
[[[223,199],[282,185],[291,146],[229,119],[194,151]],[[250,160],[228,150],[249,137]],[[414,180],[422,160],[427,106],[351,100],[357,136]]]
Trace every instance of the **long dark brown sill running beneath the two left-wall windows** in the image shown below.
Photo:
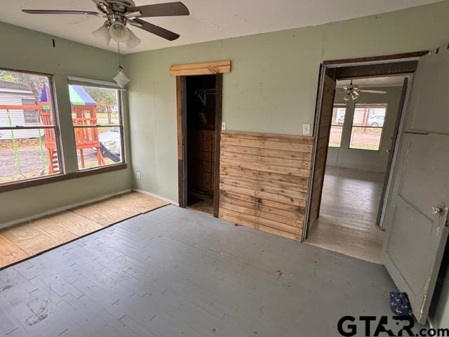
[[[70,180],[70,179],[82,178],[82,177],[87,177],[87,176],[93,176],[95,174],[100,174],[100,173],[124,170],[127,167],[128,167],[128,164],[126,164],[126,163],[114,164],[114,165],[110,165],[110,166],[99,167],[99,168],[95,168],[95,169],[88,169],[88,170],[84,170],[84,171],[58,174],[55,176],[49,176],[49,177],[45,177],[45,178],[23,180],[23,181],[18,181],[16,183],[6,183],[3,185],[0,185],[0,193],[9,192],[9,191],[13,191],[13,190],[20,190],[22,188],[27,188],[27,187],[34,187],[34,186],[39,186],[39,185],[56,183],[58,181],[63,181],[63,180]]]

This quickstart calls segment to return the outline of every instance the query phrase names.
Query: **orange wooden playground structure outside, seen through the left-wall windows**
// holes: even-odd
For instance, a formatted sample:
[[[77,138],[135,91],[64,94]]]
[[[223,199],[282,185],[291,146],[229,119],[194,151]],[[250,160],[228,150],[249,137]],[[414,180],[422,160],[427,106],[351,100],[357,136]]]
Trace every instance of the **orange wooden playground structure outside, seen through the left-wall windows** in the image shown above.
[[[73,86],[75,87],[75,86]],[[78,89],[77,91],[75,91]],[[79,152],[81,168],[85,168],[84,153],[86,149],[95,150],[97,153],[98,165],[102,166],[105,164],[105,159],[102,156],[100,140],[98,138],[98,129],[95,127],[97,125],[97,104],[94,100],[84,91],[82,87],[71,88],[74,90],[74,102],[72,101],[71,92],[71,107],[72,107],[72,121],[74,126],[74,136],[76,151]],[[53,116],[51,111],[51,103],[48,102],[48,88],[44,86],[41,100],[37,102],[36,105],[0,105],[0,110],[6,110],[8,116],[9,127],[15,125],[12,124],[10,118],[11,111],[17,110],[36,110],[39,112],[41,118],[41,125],[34,126],[22,126],[20,129],[24,128],[43,128],[43,145],[46,147],[47,157],[48,157],[48,174],[59,173],[59,161],[58,161],[58,151],[56,143],[55,129],[53,128]],[[11,141],[13,144],[13,151],[15,156],[16,166],[20,172],[20,156],[18,154],[18,144],[14,136],[14,131],[11,130]],[[39,147],[41,149],[41,159],[43,162],[43,147],[41,134],[39,132]]]

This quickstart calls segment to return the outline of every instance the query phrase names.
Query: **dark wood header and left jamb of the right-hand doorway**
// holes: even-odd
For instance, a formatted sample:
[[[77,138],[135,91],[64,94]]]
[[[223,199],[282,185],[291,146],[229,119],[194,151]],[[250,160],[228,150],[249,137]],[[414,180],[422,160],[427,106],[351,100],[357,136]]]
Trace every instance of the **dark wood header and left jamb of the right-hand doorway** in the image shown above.
[[[314,119],[314,146],[312,148],[312,159],[311,159],[311,177],[314,176],[314,168],[317,160],[316,156],[316,145],[319,139],[319,129],[321,119],[321,100],[323,99],[323,80],[325,74],[333,79],[349,79],[356,77],[380,77],[396,74],[413,74],[417,67],[417,62],[419,58],[426,55],[429,51],[417,51],[413,53],[401,53],[395,55],[384,55],[375,56],[372,58],[352,58],[347,60],[329,60],[324,61],[319,68],[319,83],[318,91],[316,96],[316,108],[315,108],[315,119]],[[410,89],[410,83],[408,85]],[[401,117],[398,117],[401,119]],[[329,130],[330,131],[330,130]],[[394,169],[394,163],[390,163],[389,173]],[[324,170],[323,173],[324,175]],[[309,191],[312,191],[313,179],[309,179]],[[386,188],[387,191],[387,188]],[[322,192],[322,186],[321,186]],[[388,197],[385,193],[384,200]],[[321,193],[320,193],[321,199]],[[384,202],[384,200],[382,202]],[[309,224],[309,213],[312,204],[312,196],[309,192],[307,195],[307,205],[306,213],[304,216],[304,230],[302,232],[302,241],[307,239],[309,228],[313,224]],[[320,207],[320,206],[319,206]]]

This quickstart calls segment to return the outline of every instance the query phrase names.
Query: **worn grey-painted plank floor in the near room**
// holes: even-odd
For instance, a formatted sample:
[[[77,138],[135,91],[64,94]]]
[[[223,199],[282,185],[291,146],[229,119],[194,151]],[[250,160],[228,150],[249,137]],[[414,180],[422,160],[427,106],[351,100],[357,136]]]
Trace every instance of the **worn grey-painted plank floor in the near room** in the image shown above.
[[[340,336],[343,315],[391,317],[395,289],[382,265],[166,206],[1,270],[0,336]]]

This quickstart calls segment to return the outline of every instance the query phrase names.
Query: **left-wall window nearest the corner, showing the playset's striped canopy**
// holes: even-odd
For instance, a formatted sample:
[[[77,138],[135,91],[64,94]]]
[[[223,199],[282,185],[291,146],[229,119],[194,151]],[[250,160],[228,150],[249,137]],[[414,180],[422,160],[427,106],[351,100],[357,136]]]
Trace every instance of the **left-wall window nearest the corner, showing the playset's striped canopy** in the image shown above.
[[[123,163],[120,91],[69,84],[79,170]]]

